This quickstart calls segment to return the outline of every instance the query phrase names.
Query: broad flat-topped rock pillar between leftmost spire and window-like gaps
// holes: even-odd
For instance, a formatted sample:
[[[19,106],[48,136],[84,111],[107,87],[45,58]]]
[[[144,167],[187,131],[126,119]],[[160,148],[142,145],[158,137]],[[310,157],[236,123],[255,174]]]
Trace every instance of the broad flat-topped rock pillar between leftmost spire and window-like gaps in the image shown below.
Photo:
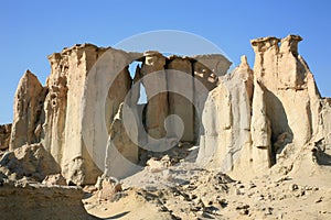
[[[105,156],[103,152],[110,124],[131,86],[126,55],[127,53],[121,51],[83,44],[49,57],[52,73],[46,85],[49,94],[44,103],[42,142],[61,165],[62,175],[67,183],[93,184],[102,174],[104,158],[99,156]],[[90,74],[94,76],[88,77]],[[99,78],[94,78],[96,75]],[[100,80],[102,76],[105,78]],[[104,96],[103,103],[100,96]],[[100,108],[104,108],[104,118],[98,122],[95,120],[102,119],[102,112],[98,111]],[[86,123],[92,128],[84,127]],[[103,132],[99,132],[99,129]],[[90,140],[97,140],[98,143],[90,143]],[[104,150],[96,151],[94,147]]]

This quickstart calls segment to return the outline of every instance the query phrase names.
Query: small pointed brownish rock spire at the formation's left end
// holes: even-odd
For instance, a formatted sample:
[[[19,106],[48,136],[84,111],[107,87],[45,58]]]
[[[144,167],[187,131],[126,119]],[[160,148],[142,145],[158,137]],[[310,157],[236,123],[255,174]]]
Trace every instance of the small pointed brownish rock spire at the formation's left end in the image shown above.
[[[25,143],[36,143],[40,136],[35,130],[42,120],[45,90],[30,70],[20,79],[14,97],[14,116],[11,131],[10,150]]]

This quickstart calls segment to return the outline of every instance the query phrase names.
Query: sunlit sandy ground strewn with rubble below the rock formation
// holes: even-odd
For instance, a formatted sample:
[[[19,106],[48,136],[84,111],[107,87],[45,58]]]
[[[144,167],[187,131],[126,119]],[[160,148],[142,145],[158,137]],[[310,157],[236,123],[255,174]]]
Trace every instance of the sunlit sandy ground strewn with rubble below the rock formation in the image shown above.
[[[285,175],[275,166],[249,180],[194,163],[146,167],[113,199],[94,193],[83,202],[103,219],[331,219],[331,167],[305,158],[295,167]]]

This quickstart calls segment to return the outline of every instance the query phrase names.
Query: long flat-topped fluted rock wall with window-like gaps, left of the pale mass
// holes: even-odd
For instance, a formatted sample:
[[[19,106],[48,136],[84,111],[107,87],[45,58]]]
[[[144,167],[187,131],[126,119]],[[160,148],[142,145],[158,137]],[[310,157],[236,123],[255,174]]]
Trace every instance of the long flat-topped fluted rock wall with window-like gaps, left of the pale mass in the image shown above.
[[[178,114],[185,125],[183,135],[177,139],[196,142],[201,124],[196,114],[201,113],[195,112],[190,101],[205,99],[207,91],[216,86],[216,75],[224,75],[231,65],[221,55],[164,57],[158,52],[127,53],[92,44],[64,48],[49,59],[51,75],[44,87],[30,72],[19,84],[10,150],[26,143],[42,143],[60,165],[66,182],[76,185],[95,183],[107,164],[117,167],[128,161],[135,167],[139,157],[138,144],[159,147],[158,140],[171,138],[171,131],[178,129],[172,125],[167,133],[164,121],[169,114]],[[142,62],[142,66],[137,67],[135,79],[131,79],[128,66],[135,61]],[[168,94],[169,88],[179,82],[177,77],[169,75],[168,78],[167,70],[170,69],[190,76],[181,82],[190,94],[189,100]],[[204,91],[197,90],[194,77],[206,87]],[[134,84],[138,85],[134,87]],[[137,103],[141,85],[148,97],[143,111]],[[120,110],[124,102],[129,111]],[[202,107],[203,100],[200,110]],[[122,112],[134,113],[132,121],[141,123],[131,122],[131,132],[128,131],[122,121],[128,117]],[[104,124],[106,129],[103,129]],[[143,129],[145,132],[138,132]],[[105,162],[106,151],[109,153],[107,140],[116,145],[111,154],[116,150],[122,155],[117,158],[115,154],[108,155],[109,161]],[[163,143],[168,142],[163,140]],[[124,177],[130,173],[129,167],[113,169],[108,175]]]

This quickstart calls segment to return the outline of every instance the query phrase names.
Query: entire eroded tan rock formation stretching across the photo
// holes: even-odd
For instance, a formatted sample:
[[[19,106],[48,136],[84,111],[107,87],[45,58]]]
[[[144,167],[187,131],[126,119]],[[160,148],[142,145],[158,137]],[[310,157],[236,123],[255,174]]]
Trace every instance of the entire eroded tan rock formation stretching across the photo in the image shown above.
[[[75,185],[94,184],[105,169],[124,178],[141,152],[178,142],[199,144],[196,162],[209,168],[263,173],[302,147],[331,143],[330,100],[298,54],[300,41],[253,40],[254,68],[243,56],[229,74],[231,62],[217,54],[65,48],[49,56],[44,87],[29,70],[20,80],[10,150],[40,144]],[[141,66],[130,74],[134,62]],[[138,103],[142,86],[146,105]]]

